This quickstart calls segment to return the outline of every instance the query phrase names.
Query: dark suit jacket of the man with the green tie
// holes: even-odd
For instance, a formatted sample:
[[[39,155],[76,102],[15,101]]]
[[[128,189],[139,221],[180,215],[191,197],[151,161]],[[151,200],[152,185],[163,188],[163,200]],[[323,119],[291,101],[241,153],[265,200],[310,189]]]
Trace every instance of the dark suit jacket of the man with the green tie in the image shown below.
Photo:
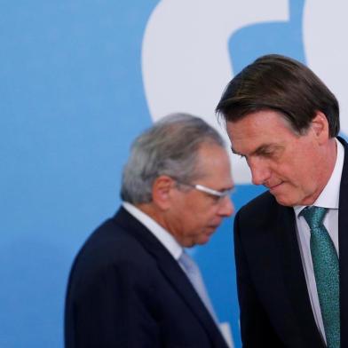
[[[348,347],[348,147],[339,202],[341,347]],[[293,208],[266,192],[234,219],[241,337],[245,347],[325,347],[312,314]]]

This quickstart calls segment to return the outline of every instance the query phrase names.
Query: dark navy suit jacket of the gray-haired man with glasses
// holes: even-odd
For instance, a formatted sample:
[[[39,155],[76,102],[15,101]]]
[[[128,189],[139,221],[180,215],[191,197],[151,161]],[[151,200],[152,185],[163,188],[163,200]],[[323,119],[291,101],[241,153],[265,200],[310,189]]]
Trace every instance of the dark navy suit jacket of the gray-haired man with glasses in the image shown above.
[[[178,262],[123,208],[91,234],[75,258],[65,343],[67,348],[227,347]]]

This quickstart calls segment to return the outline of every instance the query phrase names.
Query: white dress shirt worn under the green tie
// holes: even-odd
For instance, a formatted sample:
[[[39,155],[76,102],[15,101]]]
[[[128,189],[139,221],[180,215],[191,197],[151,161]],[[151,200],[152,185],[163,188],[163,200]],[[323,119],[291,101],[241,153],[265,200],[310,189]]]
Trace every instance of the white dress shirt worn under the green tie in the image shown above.
[[[339,204],[339,188],[342,177],[342,170],[344,166],[344,146],[336,139],[337,157],[335,168],[328,180],[328,184],[321,192],[318,199],[312,204],[316,207],[328,208],[328,212],[324,218],[324,225],[328,230],[332,241],[334,242],[337,255],[339,255],[338,248],[338,204]],[[314,270],[311,256],[311,231],[305,218],[300,216],[300,212],[305,209],[305,206],[294,207],[297,222],[297,241],[300,247],[302,265],[305,270],[305,281],[309,297],[311,299],[312,312],[316,321],[317,327],[320,330],[321,336],[326,342],[324,324],[321,317],[320,303],[317,292],[317,285],[314,277]]]

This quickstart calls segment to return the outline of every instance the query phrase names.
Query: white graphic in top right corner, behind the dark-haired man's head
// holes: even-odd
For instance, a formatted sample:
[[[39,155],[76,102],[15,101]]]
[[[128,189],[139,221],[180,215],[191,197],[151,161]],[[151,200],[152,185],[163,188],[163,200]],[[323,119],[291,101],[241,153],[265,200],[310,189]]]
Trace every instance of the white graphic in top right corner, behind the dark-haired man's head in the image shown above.
[[[307,64],[336,95],[341,130],[348,134],[348,3],[344,0],[306,0],[304,43]]]

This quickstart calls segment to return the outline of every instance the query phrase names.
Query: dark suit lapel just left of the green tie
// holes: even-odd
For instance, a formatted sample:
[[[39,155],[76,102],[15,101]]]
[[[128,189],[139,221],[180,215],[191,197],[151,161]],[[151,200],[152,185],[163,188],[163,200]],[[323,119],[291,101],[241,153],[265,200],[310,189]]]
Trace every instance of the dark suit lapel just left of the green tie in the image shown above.
[[[304,337],[305,346],[323,347],[323,342],[316,326],[312,305],[305,281],[304,267],[297,241],[295,212],[292,208],[279,206],[277,226],[281,252],[281,265],[284,282],[288,290],[290,304],[299,330]]]

